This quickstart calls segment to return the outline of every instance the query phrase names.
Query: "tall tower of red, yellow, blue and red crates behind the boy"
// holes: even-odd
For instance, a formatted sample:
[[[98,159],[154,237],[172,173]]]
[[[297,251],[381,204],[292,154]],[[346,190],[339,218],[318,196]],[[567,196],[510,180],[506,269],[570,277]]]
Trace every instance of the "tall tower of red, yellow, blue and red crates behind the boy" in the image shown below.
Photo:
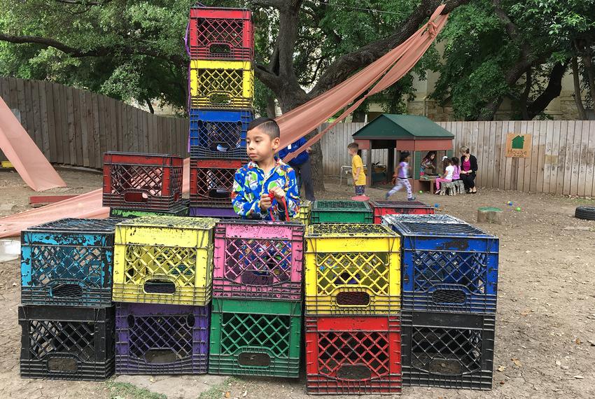
[[[231,191],[244,165],[253,120],[254,29],[251,11],[190,8],[190,216],[237,218]]]

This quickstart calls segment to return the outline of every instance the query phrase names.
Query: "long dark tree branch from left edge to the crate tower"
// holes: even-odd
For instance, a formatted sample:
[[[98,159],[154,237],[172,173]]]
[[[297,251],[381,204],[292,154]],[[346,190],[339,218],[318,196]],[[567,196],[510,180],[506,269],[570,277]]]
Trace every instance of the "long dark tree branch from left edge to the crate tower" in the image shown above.
[[[91,50],[80,50],[80,48],[74,48],[70,45],[66,45],[59,41],[56,41],[52,38],[45,38],[40,36],[13,36],[9,34],[0,33],[0,41],[8,41],[9,43],[14,44],[25,44],[25,43],[34,43],[43,45],[45,48],[52,47],[57,50],[64,52],[67,55],[75,58],[83,58],[83,57],[106,57],[111,56],[116,53],[121,53],[125,55],[148,55],[150,57],[155,57],[158,59],[164,59],[167,62],[173,62],[174,64],[185,65],[188,62],[186,59],[179,55],[163,55],[160,52],[155,50],[151,50],[150,48],[143,47],[139,45],[137,47],[129,47],[129,46],[113,46],[113,47],[106,47],[106,46],[99,46],[93,48]]]

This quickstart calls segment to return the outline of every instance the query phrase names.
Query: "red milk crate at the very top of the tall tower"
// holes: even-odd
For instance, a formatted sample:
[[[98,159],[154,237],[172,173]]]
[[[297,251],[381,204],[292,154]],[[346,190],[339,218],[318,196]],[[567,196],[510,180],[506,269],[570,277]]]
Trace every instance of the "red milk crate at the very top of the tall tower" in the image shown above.
[[[241,59],[254,57],[254,28],[250,10],[190,8],[188,25],[190,59]]]

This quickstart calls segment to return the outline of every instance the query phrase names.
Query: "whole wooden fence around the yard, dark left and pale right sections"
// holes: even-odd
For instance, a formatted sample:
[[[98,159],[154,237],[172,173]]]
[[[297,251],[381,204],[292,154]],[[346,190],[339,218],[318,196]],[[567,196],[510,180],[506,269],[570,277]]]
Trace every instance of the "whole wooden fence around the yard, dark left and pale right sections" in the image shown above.
[[[183,118],[155,116],[101,94],[38,80],[0,78],[0,96],[52,163],[99,169],[106,151],[188,156]],[[439,124],[454,134],[455,149],[468,146],[477,157],[479,186],[595,197],[595,121]],[[339,123],[325,134],[325,175],[338,177],[342,165],[351,165],[346,147],[363,125]],[[531,135],[529,158],[505,156],[508,133]],[[373,162],[386,165],[387,156],[386,150],[372,150]]]

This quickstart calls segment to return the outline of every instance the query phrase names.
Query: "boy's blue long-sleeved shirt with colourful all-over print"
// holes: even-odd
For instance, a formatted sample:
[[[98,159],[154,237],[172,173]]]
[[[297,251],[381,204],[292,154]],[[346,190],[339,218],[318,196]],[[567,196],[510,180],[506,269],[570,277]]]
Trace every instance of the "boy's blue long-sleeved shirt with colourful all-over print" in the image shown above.
[[[243,218],[272,220],[269,211],[260,210],[260,197],[268,194],[273,187],[283,189],[289,217],[295,217],[300,212],[297,179],[293,169],[281,160],[276,160],[275,167],[267,175],[252,161],[237,169],[232,190],[232,205],[236,214]],[[272,210],[274,220],[285,220],[285,211],[282,207],[279,209],[276,199],[273,199]]]

